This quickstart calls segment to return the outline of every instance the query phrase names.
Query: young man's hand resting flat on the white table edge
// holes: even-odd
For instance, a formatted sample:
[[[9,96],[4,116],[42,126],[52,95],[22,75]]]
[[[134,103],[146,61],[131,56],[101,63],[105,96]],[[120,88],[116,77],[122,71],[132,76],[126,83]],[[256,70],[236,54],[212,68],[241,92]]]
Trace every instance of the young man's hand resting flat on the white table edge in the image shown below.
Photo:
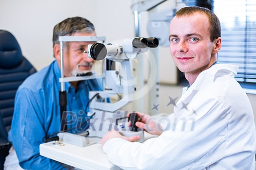
[[[130,136],[130,137],[126,137],[126,136],[122,136],[118,131],[112,130],[112,131],[108,131],[100,140],[101,142],[101,146],[103,147],[103,145],[109,140],[112,139],[114,137],[119,137],[122,138],[124,140],[128,140],[131,142],[137,141],[140,137],[138,135],[135,136]]]

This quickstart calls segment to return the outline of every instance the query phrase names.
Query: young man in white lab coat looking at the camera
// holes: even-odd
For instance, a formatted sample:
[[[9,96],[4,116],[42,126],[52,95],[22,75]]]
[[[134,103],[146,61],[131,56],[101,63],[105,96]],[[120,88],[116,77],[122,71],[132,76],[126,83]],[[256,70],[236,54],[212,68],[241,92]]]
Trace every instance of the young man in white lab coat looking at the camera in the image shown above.
[[[130,141],[139,136],[107,133],[101,144],[112,163],[125,170],[254,170],[253,110],[234,78],[238,67],[217,63],[220,32],[218,18],[208,9],[177,11],[170,24],[170,52],[189,87],[168,118],[173,122],[168,130],[139,114],[136,125],[158,137],[138,143]]]

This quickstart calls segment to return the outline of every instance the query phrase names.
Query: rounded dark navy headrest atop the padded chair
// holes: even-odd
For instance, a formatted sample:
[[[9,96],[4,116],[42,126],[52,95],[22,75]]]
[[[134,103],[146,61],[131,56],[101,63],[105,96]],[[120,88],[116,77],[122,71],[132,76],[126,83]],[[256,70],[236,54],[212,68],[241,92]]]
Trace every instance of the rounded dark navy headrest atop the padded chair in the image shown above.
[[[14,68],[22,62],[20,45],[8,31],[0,30],[0,68]]]

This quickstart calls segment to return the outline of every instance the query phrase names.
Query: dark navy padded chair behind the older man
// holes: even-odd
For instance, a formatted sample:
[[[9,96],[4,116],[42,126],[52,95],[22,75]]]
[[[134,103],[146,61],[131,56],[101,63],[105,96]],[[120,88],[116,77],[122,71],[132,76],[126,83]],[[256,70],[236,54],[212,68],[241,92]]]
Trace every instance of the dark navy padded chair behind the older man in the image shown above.
[[[11,128],[16,91],[35,72],[36,69],[22,55],[13,34],[0,30],[0,170],[11,147],[7,136]]]

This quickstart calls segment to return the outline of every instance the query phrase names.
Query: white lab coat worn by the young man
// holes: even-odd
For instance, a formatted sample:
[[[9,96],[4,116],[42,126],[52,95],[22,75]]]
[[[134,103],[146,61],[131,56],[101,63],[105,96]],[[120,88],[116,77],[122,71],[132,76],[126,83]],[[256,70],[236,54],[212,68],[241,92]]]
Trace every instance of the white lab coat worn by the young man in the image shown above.
[[[168,130],[144,143],[112,138],[103,146],[108,159],[124,170],[254,170],[254,115],[237,70],[216,64],[201,72]]]

